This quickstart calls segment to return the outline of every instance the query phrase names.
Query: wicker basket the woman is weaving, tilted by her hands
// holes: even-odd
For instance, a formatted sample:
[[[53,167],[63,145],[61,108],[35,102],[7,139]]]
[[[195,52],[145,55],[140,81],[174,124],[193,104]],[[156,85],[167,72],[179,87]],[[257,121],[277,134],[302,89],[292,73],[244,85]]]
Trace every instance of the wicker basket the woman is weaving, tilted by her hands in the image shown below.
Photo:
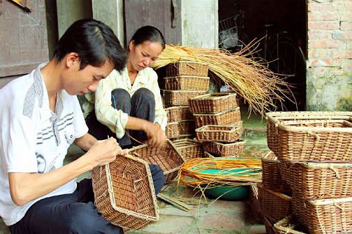
[[[148,147],[148,144],[139,145],[129,150],[129,154],[143,159],[149,164],[156,164],[162,167],[165,175],[165,183],[170,182],[177,176],[179,167],[184,163],[179,151],[166,139],[162,149],[153,150]]]

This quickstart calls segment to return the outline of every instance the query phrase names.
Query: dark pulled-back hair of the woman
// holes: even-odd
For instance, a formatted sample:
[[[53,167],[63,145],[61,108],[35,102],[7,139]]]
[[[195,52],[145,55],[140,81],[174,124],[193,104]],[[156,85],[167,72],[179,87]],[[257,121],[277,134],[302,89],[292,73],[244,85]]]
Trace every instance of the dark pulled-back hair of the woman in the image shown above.
[[[140,27],[135,34],[133,34],[131,41],[132,40],[134,40],[135,45],[140,45],[146,41],[160,43],[162,49],[165,49],[165,39],[164,36],[162,36],[162,32],[150,25]]]

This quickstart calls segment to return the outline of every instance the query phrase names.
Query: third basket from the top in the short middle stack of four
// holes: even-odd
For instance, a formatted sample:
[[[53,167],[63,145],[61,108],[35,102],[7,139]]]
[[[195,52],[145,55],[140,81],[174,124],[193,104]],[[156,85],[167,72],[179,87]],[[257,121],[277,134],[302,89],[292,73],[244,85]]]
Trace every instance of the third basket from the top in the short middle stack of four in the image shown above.
[[[239,127],[206,125],[195,130],[198,141],[234,142],[241,136]]]

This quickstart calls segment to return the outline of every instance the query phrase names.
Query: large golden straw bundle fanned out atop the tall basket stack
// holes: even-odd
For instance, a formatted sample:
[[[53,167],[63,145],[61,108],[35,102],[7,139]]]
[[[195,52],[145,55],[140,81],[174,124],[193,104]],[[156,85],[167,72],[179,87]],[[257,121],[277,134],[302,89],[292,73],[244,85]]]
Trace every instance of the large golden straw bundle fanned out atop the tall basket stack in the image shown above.
[[[283,98],[289,98],[292,92],[281,76],[267,68],[267,62],[253,57],[252,47],[256,43],[231,54],[225,49],[166,45],[152,67],[159,69],[179,61],[207,63],[212,73],[248,102],[250,112],[264,115],[277,108],[276,103],[283,107]]]

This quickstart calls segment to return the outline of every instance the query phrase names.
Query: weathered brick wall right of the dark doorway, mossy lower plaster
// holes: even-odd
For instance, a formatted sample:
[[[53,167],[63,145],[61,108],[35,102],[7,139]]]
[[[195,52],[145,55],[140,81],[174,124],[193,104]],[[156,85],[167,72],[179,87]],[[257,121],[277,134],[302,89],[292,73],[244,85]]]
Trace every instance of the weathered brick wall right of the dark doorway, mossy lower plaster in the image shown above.
[[[307,110],[352,111],[352,0],[307,3]]]

